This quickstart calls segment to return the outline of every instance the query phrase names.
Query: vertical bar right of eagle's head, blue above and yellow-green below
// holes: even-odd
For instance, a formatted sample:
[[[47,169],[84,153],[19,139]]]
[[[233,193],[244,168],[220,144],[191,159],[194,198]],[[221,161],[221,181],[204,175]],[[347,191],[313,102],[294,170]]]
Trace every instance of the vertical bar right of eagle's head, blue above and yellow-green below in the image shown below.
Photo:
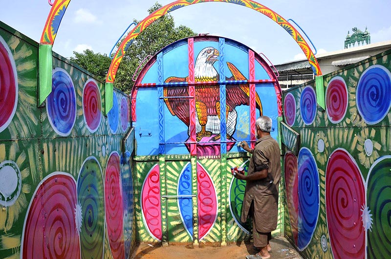
[[[224,53],[225,39],[218,39],[218,52],[220,53],[219,58],[219,80],[225,80],[225,53]],[[220,200],[220,216],[221,216],[221,245],[227,245],[227,183],[226,183],[226,173],[227,173],[227,110],[226,110],[226,86],[220,86],[220,179],[221,179],[221,200]]]

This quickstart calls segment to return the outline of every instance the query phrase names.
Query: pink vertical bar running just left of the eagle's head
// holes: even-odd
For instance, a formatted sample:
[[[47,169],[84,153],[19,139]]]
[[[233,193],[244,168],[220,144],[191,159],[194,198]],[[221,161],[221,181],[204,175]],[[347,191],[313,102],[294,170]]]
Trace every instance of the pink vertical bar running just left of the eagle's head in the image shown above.
[[[189,83],[194,83],[194,38],[189,38],[188,42],[188,54],[189,54]],[[189,86],[189,96],[195,96],[195,86]],[[190,141],[195,142],[195,98],[189,100],[190,107]],[[197,154],[196,144],[190,144],[190,154]]]

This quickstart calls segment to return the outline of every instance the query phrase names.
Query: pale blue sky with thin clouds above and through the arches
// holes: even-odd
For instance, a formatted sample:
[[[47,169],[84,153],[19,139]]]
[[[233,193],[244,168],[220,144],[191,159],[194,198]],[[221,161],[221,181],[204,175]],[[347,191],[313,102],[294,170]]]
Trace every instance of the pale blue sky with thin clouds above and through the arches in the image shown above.
[[[156,0],[71,0],[53,50],[64,57],[92,49],[106,53],[133,19],[148,16]],[[165,5],[173,0],[158,0]],[[391,40],[391,0],[258,0],[285,19],[297,22],[318,53],[344,48],[352,27],[368,26],[371,43]],[[47,0],[0,0],[0,21],[39,42],[50,11]],[[293,38],[277,23],[250,8],[205,2],[171,12],[175,25],[243,43],[273,64],[304,59]]]

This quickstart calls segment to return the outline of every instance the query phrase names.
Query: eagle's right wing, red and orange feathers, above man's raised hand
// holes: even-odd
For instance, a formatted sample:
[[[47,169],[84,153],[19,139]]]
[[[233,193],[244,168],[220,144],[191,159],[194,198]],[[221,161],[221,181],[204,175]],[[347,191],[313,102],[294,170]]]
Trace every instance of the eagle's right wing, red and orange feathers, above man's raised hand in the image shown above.
[[[232,73],[232,77],[226,78],[228,81],[247,80],[247,78],[239,71],[232,63],[227,62],[228,68]],[[248,85],[239,85],[239,87],[231,85],[227,86],[227,105],[230,111],[239,105],[250,105],[250,87]],[[262,115],[262,103],[257,92],[255,92],[256,107]]]

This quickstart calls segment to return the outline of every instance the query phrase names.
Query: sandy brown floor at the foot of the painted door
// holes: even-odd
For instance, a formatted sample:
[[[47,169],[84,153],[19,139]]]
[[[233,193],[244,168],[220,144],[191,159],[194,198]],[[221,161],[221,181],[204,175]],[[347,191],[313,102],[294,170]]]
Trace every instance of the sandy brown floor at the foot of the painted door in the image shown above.
[[[274,237],[271,259],[302,259],[299,253],[284,237]],[[248,254],[256,254],[252,243],[237,242],[227,246],[207,246],[198,248],[192,245],[152,246],[140,243],[132,259],[245,259]]]

